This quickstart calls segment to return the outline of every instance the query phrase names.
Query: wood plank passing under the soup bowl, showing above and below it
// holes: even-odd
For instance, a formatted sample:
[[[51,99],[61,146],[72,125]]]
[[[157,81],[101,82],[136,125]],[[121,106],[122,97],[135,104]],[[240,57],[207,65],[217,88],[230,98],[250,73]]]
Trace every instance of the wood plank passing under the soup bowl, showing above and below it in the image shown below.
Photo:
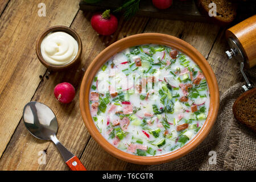
[[[219,30],[220,27],[213,24],[150,19],[144,32],[159,32],[180,37],[207,57]],[[92,138],[86,146],[81,160],[87,165],[88,170],[140,170],[143,168],[141,165],[114,158],[98,146]]]

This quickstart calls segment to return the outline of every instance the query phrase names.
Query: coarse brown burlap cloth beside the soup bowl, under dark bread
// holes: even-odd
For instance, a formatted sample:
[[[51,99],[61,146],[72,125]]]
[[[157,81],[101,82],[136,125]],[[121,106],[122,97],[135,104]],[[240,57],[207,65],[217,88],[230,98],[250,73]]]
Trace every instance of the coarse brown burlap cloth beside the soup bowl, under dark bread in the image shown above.
[[[241,74],[241,73],[239,73]],[[246,72],[255,86],[256,68]],[[242,94],[240,82],[220,98],[218,118],[205,140],[192,152],[169,163],[144,166],[144,170],[255,170],[256,134],[238,122],[233,115],[234,101]],[[216,153],[213,164],[212,152]],[[209,155],[210,152],[210,155]],[[210,162],[209,162],[210,159]]]

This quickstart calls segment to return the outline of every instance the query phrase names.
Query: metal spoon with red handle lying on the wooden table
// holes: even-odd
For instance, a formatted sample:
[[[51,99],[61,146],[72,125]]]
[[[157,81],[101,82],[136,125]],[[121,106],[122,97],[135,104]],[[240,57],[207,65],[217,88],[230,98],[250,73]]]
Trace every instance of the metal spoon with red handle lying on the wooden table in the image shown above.
[[[58,123],[55,114],[40,102],[28,102],[23,109],[24,124],[30,133],[42,140],[52,140],[72,171],[86,171],[77,156],[67,150],[56,138]]]

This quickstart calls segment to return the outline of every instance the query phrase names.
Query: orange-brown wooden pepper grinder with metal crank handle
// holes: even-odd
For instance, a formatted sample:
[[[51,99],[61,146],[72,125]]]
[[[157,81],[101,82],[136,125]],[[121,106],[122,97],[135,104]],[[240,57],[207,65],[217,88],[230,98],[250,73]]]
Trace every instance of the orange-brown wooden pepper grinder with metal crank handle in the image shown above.
[[[249,69],[256,65],[256,15],[226,30],[226,39],[230,49],[225,53],[229,59],[235,57],[240,62],[240,71],[247,83],[243,89],[247,91],[252,86],[243,72],[243,66]]]

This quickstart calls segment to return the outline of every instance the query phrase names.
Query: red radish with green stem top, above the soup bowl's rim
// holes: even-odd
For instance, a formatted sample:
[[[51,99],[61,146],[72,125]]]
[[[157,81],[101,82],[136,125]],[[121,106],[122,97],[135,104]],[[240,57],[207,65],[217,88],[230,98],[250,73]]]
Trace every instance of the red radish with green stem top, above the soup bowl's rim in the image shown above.
[[[104,11],[104,13],[97,13],[90,19],[93,29],[100,35],[112,35],[118,26],[117,18],[110,14],[110,10]]]

